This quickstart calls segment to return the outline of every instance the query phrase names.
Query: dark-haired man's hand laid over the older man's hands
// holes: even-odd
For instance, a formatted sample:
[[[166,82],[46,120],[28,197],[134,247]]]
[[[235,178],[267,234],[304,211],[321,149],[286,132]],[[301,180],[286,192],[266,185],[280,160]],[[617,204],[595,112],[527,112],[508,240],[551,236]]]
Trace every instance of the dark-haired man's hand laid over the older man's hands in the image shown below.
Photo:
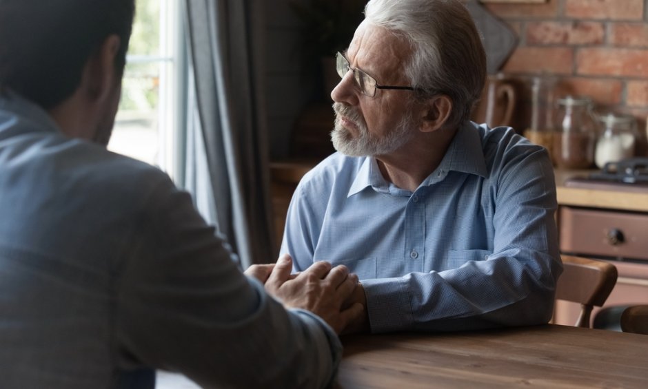
[[[296,275],[291,275],[291,271],[292,258],[282,255],[265,281],[265,290],[280,299],[285,307],[315,313],[338,334],[363,315],[362,304],[348,304],[356,290],[358,276],[350,274],[346,266],[315,262]]]

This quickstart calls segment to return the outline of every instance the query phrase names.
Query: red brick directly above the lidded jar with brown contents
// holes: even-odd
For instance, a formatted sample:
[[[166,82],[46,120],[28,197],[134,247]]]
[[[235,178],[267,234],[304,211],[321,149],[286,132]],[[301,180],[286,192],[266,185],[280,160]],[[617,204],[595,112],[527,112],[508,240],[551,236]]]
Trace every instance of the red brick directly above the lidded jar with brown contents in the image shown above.
[[[596,104],[621,103],[622,83],[611,78],[567,77],[560,80],[556,96],[589,96]]]

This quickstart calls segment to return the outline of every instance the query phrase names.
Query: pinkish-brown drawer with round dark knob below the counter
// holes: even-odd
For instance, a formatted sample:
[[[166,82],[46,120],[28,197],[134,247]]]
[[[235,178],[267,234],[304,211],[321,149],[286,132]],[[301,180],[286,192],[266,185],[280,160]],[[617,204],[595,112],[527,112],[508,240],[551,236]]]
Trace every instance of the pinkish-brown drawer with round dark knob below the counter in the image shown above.
[[[648,260],[648,214],[560,207],[560,251]]]

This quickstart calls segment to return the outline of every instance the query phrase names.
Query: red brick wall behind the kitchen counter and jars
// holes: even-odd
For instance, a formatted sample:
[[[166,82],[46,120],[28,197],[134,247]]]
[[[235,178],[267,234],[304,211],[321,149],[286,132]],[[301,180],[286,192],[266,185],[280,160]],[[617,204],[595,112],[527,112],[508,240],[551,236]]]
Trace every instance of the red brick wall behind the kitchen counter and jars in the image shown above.
[[[494,1],[494,0],[492,0]],[[518,34],[502,71],[518,83],[555,74],[558,95],[587,95],[598,112],[629,113],[641,132],[648,116],[648,0],[547,0],[484,3]],[[519,109],[516,127],[528,123]]]

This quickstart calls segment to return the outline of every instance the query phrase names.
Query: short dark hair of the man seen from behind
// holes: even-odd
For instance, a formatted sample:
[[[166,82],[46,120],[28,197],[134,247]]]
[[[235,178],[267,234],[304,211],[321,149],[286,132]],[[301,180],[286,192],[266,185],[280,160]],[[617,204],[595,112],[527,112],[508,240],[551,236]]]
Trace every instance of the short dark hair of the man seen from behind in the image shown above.
[[[70,97],[83,67],[111,34],[126,62],[135,0],[0,0],[0,90],[45,109]]]

